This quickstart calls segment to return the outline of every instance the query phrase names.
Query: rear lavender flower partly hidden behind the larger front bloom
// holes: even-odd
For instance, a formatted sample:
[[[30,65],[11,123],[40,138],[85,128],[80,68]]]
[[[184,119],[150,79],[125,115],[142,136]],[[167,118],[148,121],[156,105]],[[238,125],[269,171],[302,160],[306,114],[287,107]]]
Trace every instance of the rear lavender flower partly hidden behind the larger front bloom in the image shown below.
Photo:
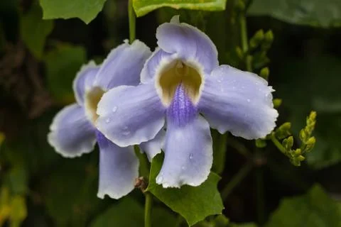
[[[136,40],[124,43],[109,53],[102,66],[94,62],[83,66],[73,83],[76,104],[66,106],[53,119],[48,142],[64,157],[77,157],[90,153],[97,142],[99,145],[99,189],[103,198],[108,194],[118,199],[134,189],[139,174],[139,161],[134,147],[121,148],[102,135],[94,127],[96,109],[102,94],[122,84],[139,84],[139,75],[146,59],[151,55],[149,48]],[[111,109],[112,112],[115,109]],[[115,121],[113,118],[112,121]],[[141,144],[148,157],[160,151],[162,133],[148,143]]]

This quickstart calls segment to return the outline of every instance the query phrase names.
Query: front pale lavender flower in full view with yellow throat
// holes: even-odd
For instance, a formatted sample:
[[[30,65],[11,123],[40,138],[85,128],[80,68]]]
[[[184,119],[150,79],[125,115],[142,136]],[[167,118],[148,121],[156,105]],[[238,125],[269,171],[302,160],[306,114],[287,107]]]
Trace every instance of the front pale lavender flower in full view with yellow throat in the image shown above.
[[[166,123],[165,159],[156,182],[197,186],[212,167],[210,127],[247,139],[266,136],[278,116],[274,90],[256,74],[219,66],[210,38],[179,23],[178,16],[159,26],[156,38],[158,48],[141,71],[141,84],[104,94],[96,125],[126,146],[151,140]]]

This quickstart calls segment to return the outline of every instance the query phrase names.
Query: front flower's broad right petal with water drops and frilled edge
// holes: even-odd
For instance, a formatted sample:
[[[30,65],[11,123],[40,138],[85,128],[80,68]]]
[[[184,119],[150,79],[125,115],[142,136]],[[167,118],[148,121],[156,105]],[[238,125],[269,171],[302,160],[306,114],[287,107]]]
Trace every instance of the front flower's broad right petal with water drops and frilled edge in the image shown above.
[[[222,65],[205,78],[198,103],[212,128],[246,139],[262,138],[276,126],[274,90],[251,72]]]

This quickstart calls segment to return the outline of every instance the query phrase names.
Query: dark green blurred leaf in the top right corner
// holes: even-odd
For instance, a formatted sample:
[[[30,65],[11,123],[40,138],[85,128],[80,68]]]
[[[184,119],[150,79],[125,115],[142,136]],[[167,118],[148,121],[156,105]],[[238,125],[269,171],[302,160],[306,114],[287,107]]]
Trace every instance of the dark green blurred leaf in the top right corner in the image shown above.
[[[341,26],[339,0],[254,0],[248,13],[308,26]]]

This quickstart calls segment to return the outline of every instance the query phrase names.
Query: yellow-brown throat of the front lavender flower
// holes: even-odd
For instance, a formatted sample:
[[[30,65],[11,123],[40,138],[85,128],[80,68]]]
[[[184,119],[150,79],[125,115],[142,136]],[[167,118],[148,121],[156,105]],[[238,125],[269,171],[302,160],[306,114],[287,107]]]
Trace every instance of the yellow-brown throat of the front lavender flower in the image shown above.
[[[196,104],[200,97],[202,86],[202,73],[195,65],[175,60],[161,68],[156,79],[156,87],[161,101],[166,106],[171,104],[177,87],[181,84],[185,93],[193,104]]]

